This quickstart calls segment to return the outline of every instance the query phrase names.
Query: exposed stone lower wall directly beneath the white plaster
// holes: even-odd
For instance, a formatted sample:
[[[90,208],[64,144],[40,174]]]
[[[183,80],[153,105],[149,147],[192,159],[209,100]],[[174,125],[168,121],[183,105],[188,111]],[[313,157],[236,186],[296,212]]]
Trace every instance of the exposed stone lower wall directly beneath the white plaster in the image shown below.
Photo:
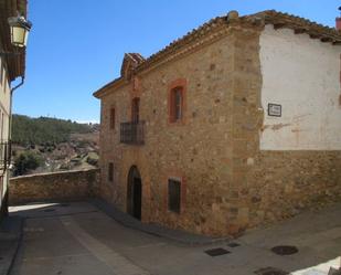
[[[260,151],[241,192],[248,226],[341,201],[340,151]]]

